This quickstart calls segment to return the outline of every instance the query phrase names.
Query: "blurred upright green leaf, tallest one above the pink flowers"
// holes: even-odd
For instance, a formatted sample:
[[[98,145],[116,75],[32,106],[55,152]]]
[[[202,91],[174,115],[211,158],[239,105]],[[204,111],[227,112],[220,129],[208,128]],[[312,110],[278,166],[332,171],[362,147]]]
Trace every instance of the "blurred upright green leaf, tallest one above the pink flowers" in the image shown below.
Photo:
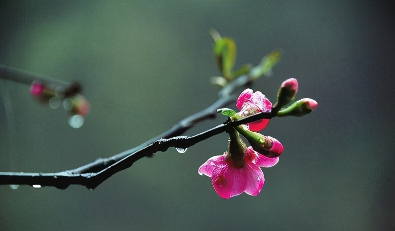
[[[235,41],[230,38],[215,40],[214,56],[222,75],[228,81],[232,80],[232,69],[236,61]]]

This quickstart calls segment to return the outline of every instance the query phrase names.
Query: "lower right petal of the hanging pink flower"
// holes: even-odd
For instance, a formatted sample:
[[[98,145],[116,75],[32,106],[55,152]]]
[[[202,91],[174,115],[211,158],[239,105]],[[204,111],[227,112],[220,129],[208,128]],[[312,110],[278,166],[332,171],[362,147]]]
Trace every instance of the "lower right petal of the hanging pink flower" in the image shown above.
[[[248,174],[245,176],[245,192],[249,195],[256,196],[261,192],[265,183],[263,172],[256,165],[251,165],[251,163],[247,163],[244,168],[245,172]]]

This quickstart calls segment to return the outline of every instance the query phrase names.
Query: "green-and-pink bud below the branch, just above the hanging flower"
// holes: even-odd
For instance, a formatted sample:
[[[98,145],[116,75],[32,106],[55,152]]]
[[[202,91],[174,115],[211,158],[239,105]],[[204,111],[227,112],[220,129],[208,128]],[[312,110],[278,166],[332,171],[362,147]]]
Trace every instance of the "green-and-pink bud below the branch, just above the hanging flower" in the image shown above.
[[[284,150],[281,143],[273,137],[252,132],[246,129],[245,126],[237,126],[236,130],[248,140],[251,147],[256,152],[263,154],[266,157],[275,158]]]

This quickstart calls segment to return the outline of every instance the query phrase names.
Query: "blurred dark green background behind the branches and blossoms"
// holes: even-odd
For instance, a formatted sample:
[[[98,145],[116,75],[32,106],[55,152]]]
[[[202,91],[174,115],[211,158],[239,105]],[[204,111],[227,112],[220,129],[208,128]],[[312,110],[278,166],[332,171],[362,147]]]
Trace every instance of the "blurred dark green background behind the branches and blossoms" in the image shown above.
[[[285,149],[263,169],[257,197],[221,199],[197,174],[226,150],[220,134],[143,158],[94,191],[1,186],[0,230],[394,230],[394,9],[392,0],[1,1],[0,63],[79,80],[91,112],[73,129],[63,109],[1,80],[0,171],[72,169],[209,106],[218,91],[209,77],[220,75],[210,28],[236,40],[236,68],[281,48],[274,75],[252,88],[274,102],[296,77],[297,99],[319,107],[263,131]]]

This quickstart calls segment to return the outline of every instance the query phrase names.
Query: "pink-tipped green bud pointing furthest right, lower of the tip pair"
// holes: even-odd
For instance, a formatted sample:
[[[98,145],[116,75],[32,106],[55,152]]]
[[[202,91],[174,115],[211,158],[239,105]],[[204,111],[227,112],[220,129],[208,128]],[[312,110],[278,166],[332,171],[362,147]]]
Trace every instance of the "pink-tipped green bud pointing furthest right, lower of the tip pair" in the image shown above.
[[[277,113],[278,117],[282,116],[305,116],[311,112],[313,112],[316,107],[318,106],[318,103],[309,98],[304,98],[296,101],[293,103],[291,106],[288,108],[281,110]]]

